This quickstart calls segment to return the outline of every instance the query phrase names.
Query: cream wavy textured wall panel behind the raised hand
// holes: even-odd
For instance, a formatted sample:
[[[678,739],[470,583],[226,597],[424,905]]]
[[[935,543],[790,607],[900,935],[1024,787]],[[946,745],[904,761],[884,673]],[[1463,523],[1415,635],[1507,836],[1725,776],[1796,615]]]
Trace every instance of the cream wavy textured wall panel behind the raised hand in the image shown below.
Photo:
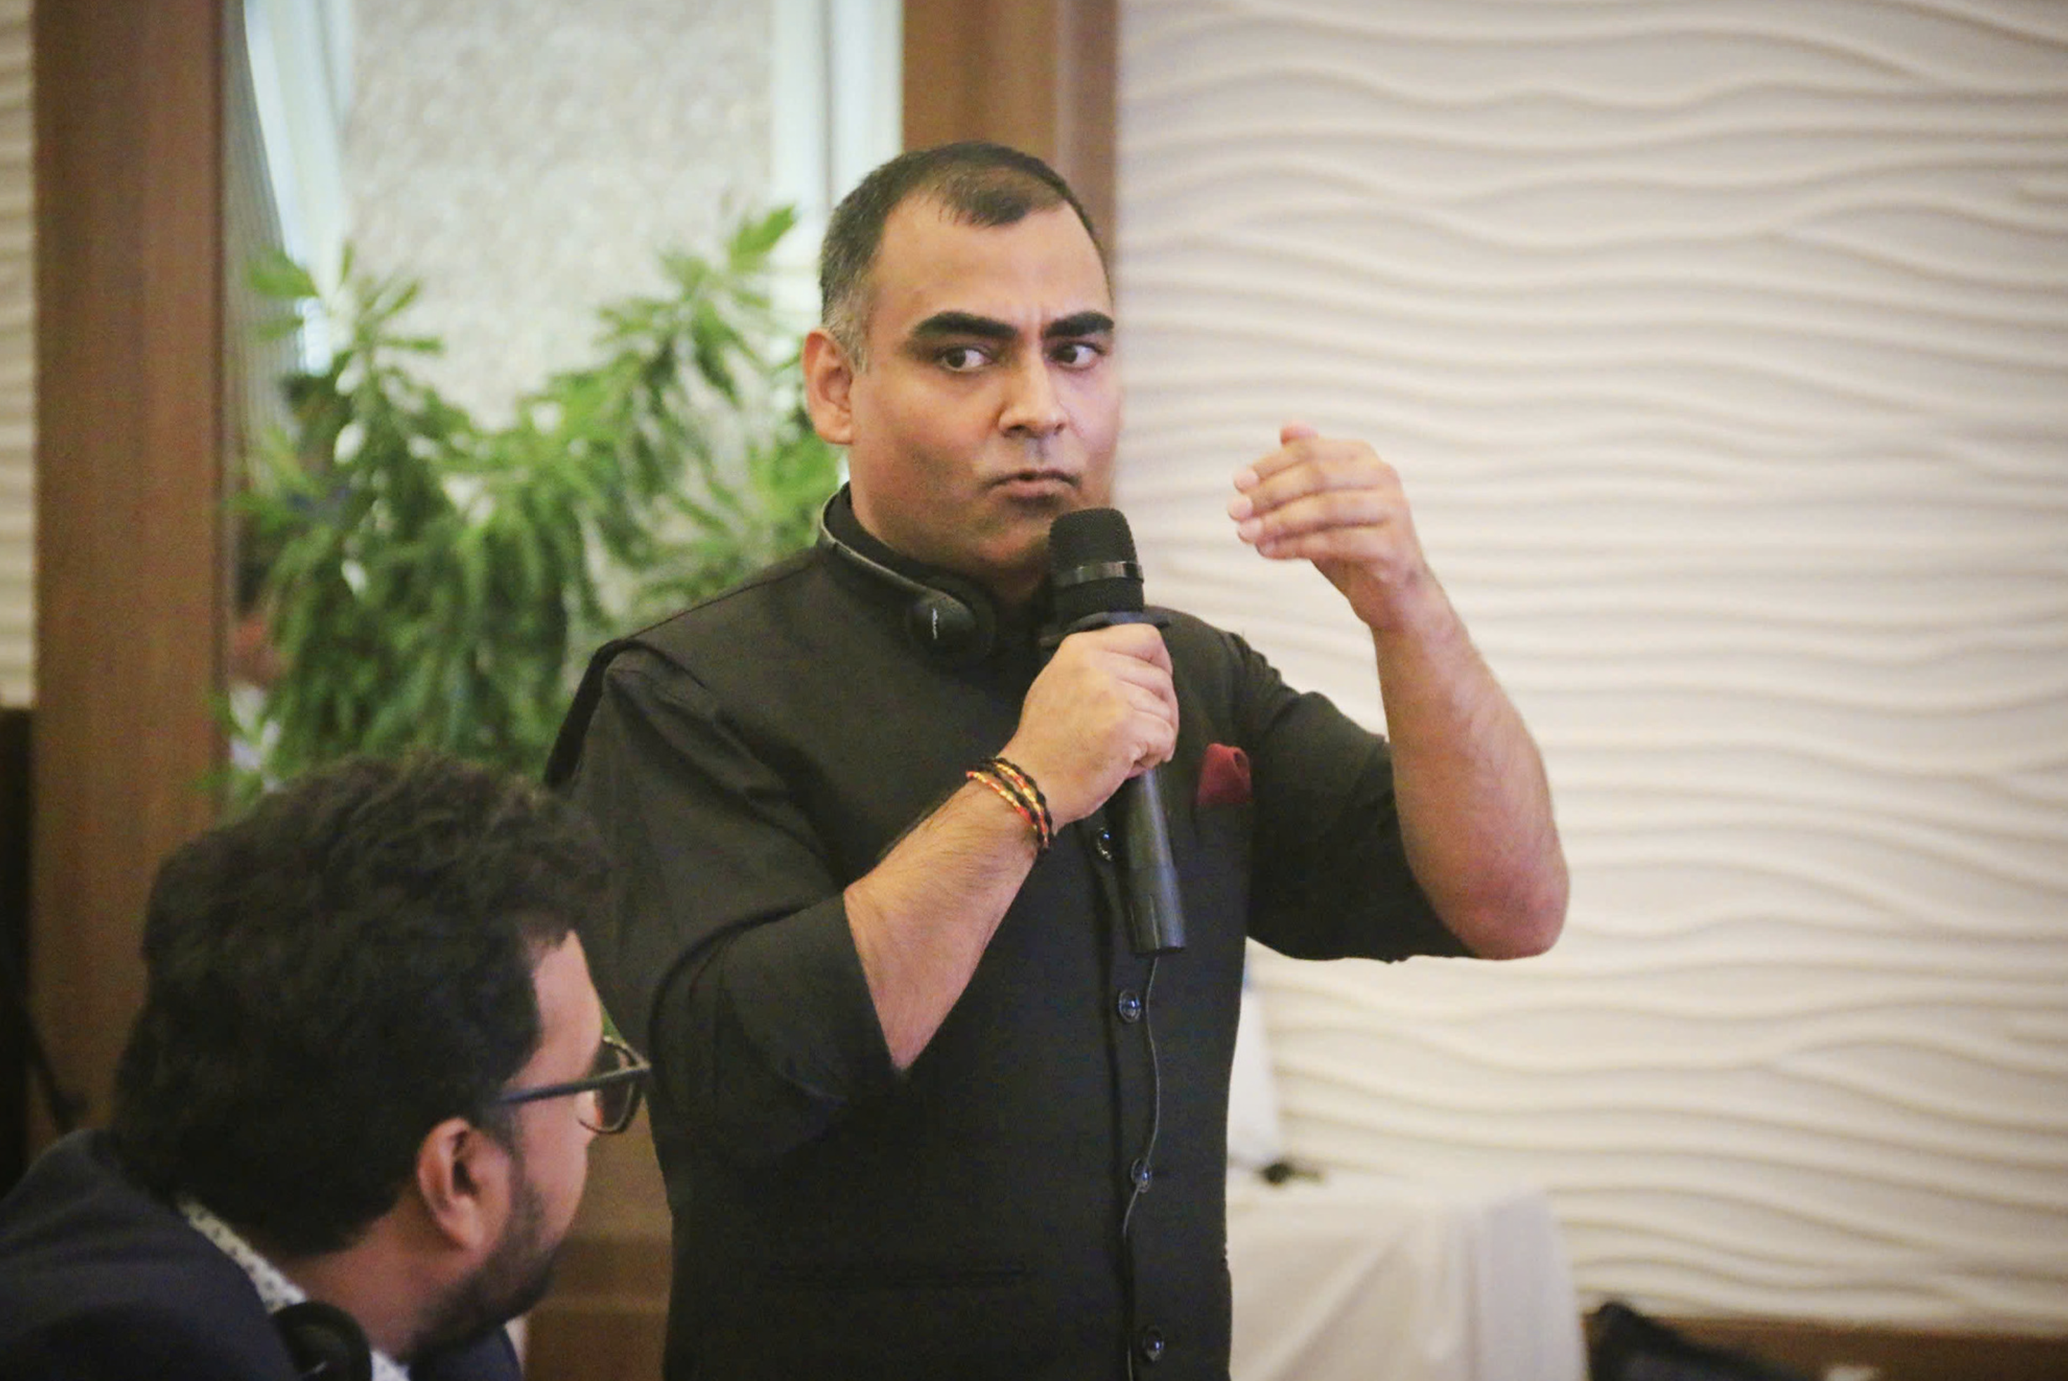
[[[1154,597],[1377,724],[1222,515],[1371,438],[1574,866],[1539,961],[1274,957],[1292,1147],[1539,1180],[1588,1294],[2068,1327],[2068,8],[1123,17]]]

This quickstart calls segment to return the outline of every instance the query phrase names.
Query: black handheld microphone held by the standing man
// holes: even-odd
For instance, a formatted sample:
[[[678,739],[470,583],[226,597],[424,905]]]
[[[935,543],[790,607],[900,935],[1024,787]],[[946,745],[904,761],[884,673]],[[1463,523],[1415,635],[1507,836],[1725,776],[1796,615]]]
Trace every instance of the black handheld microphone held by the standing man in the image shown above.
[[[1048,585],[1055,595],[1057,641],[1086,628],[1168,622],[1162,614],[1142,610],[1135,538],[1117,509],[1079,509],[1051,523]],[[1121,897],[1135,953],[1185,949],[1185,908],[1177,895],[1170,825],[1156,769],[1121,781],[1106,802],[1106,815],[1119,841]]]

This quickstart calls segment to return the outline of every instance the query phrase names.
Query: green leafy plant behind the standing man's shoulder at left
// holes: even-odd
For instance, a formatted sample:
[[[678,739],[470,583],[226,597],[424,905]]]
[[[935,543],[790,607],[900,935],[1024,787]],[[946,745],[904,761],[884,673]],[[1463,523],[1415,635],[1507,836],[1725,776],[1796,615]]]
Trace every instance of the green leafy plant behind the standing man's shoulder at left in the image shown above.
[[[277,672],[234,713],[250,798],[352,753],[440,748],[538,773],[587,647],[811,542],[838,453],[804,418],[796,337],[769,306],[776,211],[668,291],[602,310],[598,358],[482,428],[412,372],[438,341],[416,283],[343,273],[323,302],[287,258],[261,291],[329,316],[296,424],[234,502],[265,569]]]

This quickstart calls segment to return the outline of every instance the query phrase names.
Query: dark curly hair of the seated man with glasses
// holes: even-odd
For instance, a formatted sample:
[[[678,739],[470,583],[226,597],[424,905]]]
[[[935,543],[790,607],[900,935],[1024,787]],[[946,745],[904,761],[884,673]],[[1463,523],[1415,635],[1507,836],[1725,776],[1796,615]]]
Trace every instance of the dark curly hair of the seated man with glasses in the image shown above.
[[[540,1042],[534,970],[602,914],[573,808],[447,757],[312,773],[165,858],[114,1135],[151,1189],[285,1253],[389,1211],[432,1127]]]

